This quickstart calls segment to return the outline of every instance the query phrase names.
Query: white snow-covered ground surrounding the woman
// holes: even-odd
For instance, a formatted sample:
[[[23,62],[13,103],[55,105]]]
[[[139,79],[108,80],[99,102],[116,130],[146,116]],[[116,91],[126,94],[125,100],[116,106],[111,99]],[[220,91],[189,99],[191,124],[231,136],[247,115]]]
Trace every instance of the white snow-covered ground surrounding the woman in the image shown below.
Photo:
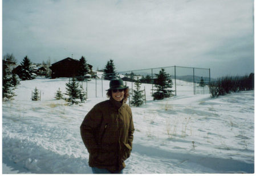
[[[3,174],[92,173],[79,127],[87,112],[107,99],[109,81],[84,82],[88,100],[80,106],[54,99],[66,82],[21,81],[15,99],[2,103]],[[31,100],[35,87],[41,91],[38,102]],[[254,173],[254,91],[215,99],[180,91],[153,101],[152,85],[144,87],[147,104],[132,107],[136,130],[125,174]],[[193,91],[186,82],[177,81],[177,87]]]

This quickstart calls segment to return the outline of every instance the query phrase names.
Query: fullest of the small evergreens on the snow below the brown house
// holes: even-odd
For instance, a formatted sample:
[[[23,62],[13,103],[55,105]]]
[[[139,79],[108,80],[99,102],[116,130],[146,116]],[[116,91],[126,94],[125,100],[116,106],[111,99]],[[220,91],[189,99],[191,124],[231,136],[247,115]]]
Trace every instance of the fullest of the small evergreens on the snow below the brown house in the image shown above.
[[[76,82],[75,78],[72,78],[72,82],[66,83],[66,95],[68,95],[68,102],[71,102],[72,104],[78,104],[80,99],[80,89],[79,89],[79,83]]]

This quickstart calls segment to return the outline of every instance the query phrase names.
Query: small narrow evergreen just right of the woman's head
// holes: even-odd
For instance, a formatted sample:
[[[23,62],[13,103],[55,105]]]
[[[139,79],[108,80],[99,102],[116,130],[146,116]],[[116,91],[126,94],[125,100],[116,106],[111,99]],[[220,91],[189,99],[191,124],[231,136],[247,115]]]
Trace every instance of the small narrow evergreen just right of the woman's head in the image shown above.
[[[135,82],[135,90],[132,90],[133,94],[132,94],[132,101],[131,101],[131,104],[137,107],[141,106],[141,104],[143,104],[144,102],[144,95],[143,95],[144,90],[140,90],[140,86],[141,86],[141,83],[139,79],[137,79],[137,81]]]

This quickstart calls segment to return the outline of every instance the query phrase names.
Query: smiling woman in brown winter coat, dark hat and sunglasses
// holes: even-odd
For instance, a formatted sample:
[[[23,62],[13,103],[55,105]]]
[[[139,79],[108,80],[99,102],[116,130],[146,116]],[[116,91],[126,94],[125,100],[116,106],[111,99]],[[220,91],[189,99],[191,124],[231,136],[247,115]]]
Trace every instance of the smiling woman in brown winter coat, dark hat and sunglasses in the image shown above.
[[[135,130],[131,108],[125,103],[129,89],[123,80],[113,79],[107,91],[109,100],[96,104],[80,126],[90,153],[89,166],[96,174],[123,173]]]

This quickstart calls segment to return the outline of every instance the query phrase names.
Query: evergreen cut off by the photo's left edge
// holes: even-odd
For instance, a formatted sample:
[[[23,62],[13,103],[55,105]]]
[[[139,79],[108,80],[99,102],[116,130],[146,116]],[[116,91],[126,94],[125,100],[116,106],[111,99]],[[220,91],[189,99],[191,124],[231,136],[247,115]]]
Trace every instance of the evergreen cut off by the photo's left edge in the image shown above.
[[[11,99],[15,96],[14,85],[11,77],[10,70],[7,64],[3,63],[3,77],[2,77],[2,98],[5,100]]]

